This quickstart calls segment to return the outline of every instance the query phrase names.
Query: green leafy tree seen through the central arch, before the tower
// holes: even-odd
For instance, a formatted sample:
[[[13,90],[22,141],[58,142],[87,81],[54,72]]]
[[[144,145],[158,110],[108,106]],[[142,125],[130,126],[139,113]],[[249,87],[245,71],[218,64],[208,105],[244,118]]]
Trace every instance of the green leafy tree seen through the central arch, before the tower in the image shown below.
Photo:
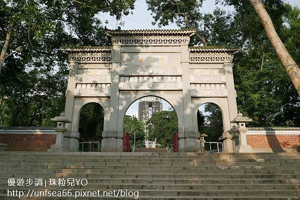
[[[153,113],[146,125],[148,140],[156,141],[161,147],[171,147],[173,134],[178,131],[177,114],[174,110]]]

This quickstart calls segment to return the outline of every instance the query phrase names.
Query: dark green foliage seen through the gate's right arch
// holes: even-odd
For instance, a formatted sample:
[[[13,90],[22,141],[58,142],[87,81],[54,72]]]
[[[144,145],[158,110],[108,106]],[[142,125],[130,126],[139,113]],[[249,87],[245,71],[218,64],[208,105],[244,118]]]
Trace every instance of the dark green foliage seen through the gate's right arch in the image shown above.
[[[219,107],[212,103],[205,104],[204,112],[209,114],[204,116],[197,110],[198,131],[207,135],[206,142],[217,142],[223,133],[222,113]]]

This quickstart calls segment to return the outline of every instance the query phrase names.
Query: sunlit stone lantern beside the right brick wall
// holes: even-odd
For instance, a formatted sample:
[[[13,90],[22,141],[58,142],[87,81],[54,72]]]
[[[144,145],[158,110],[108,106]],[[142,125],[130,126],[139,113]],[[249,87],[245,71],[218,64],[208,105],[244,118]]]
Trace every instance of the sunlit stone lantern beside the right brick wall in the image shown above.
[[[235,152],[238,153],[250,153],[252,151],[251,146],[247,145],[246,132],[246,122],[251,122],[252,119],[248,117],[243,117],[241,113],[237,114],[237,117],[234,118],[230,123],[236,123],[237,127],[234,129],[234,132],[238,135],[238,146],[235,147]]]

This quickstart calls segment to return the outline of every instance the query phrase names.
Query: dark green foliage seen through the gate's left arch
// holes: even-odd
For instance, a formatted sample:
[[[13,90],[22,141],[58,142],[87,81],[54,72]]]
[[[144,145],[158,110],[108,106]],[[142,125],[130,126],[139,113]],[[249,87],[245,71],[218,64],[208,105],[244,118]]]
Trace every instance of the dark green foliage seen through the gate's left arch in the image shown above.
[[[82,106],[79,116],[80,136],[84,141],[95,141],[101,138],[104,122],[104,110],[97,103],[87,103]]]

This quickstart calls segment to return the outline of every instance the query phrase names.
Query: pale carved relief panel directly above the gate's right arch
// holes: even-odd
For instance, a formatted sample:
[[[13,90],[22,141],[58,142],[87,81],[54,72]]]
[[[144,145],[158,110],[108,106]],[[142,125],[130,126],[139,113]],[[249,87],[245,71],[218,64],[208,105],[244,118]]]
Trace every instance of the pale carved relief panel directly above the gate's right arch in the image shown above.
[[[225,84],[190,84],[191,96],[194,97],[224,97],[227,96]]]

